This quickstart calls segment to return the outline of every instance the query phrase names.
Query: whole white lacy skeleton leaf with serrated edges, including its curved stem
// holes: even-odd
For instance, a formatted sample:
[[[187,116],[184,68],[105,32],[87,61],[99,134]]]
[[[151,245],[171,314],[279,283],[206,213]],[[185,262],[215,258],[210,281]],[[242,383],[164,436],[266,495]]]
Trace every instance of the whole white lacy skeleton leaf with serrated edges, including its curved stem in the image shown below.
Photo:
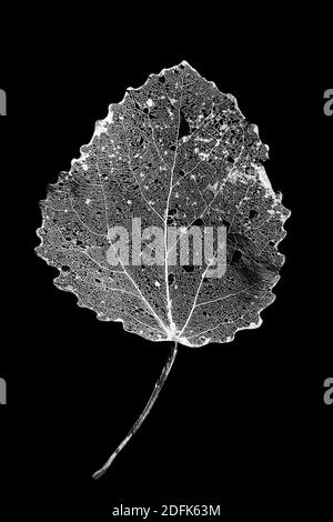
[[[59,269],[56,287],[99,320],[172,342],[144,410],[98,479],[149,414],[180,344],[230,342],[260,327],[291,212],[263,167],[269,147],[258,127],[186,61],[129,88],[80,152],[40,203],[36,252]]]

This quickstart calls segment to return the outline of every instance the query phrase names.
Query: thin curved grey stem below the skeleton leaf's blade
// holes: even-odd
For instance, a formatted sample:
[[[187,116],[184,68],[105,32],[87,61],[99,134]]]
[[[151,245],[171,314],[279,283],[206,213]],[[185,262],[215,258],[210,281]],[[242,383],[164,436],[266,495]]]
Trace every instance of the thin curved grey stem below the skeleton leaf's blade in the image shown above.
[[[131,430],[129,431],[127,436],[119,444],[119,446],[112,453],[110,459],[105,462],[105,464],[100,470],[98,470],[95,473],[93,473],[93,475],[92,475],[93,479],[99,479],[100,476],[102,476],[107,472],[107,470],[110,468],[110,465],[114,461],[118,453],[121,452],[121,450],[124,448],[124,445],[130,441],[130,439],[133,436],[133,434],[139,430],[142,422],[144,421],[144,419],[148,416],[150,410],[152,409],[155,400],[158,399],[158,396],[160,394],[160,391],[162,390],[162,387],[163,387],[164,382],[168,379],[169,372],[170,372],[170,370],[173,365],[173,362],[174,362],[174,359],[175,359],[175,355],[176,355],[176,351],[178,351],[178,342],[175,341],[174,344],[171,347],[171,349],[169,351],[168,360],[167,360],[167,362],[163,367],[163,370],[162,370],[158,381],[155,382],[153,392],[150,395],[150,399],[149,399],[144,410],[142,411],[141,415],[135,421],[135,423],[133,424],[133,426],[131,428]]]

